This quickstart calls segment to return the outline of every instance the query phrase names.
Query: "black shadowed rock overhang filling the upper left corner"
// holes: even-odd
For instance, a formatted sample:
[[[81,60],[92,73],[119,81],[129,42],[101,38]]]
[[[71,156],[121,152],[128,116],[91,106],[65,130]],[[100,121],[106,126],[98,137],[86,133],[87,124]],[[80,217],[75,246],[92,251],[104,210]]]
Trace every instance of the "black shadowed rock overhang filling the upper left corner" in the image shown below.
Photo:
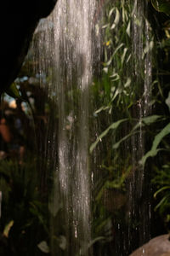
[[[0,3],[0,94],[20,71],[38,21],[57,0],[2,0]]]

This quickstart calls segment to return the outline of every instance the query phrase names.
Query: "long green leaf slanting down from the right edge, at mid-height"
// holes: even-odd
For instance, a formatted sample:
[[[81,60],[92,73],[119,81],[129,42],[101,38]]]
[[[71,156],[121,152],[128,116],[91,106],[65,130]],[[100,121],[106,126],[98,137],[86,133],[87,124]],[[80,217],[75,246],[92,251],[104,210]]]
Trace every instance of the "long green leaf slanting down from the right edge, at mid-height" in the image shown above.
[[[144,154],[142,160],[140,161],[140,163],[144,166],[145,161],[149,158],[149,157],[154,157],[156,156],[156,154],[162,150],[161,148],[157,148],[159,143],[161,143],[161,140],[163,137],[167,136],[167,134],[170,133],[170,123],[168,125],[166,125],[154,138],[154,141],[152,143],[152,147],[150,149],[149,152],[147,152],[146,154]]]

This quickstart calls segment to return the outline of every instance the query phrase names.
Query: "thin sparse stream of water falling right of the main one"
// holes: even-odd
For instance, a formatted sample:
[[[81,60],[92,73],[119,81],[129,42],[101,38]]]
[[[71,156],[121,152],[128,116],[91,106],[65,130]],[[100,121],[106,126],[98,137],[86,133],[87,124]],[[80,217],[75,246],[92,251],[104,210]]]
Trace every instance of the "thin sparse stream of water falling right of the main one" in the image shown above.
[[[135,107],[133,118],[139,119],[139,133],[132,137],[132,163],[133,176],[130,183],[129,207],[130,218],[141,222],[136,228],[136,237],[139,244],[144,244],[150,239],[150,190],[146,183],[148,180],[144,166],[139,164],[145,151],[145,135],[143,119],[150,115],[151,83],[152,83],[152,53],[153,41],[151,28],[148,21],[148,2],[134,1],[133,4],[133,82],[139,91],[138,106]],[[131,232],[131,230],[130,230]],[[135,232],[134,232],[135,233]],[[129,242],[132,242],[129,239]]]

